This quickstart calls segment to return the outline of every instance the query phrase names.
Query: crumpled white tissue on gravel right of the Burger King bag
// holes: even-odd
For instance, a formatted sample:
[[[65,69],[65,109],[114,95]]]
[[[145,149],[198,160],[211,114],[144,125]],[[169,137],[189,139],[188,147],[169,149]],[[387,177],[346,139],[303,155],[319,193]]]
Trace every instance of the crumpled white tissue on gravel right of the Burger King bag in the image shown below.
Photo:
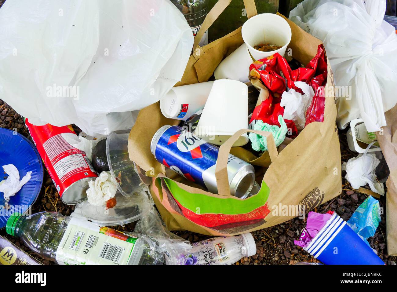
[[[384,195],[385,188],[383,184],[374,183],[369,180],[365,175],[364,170],[362,169],[363,159],[364,157],[362,156],[362,153],[360,153],[357,157],[349,159],[347,163],[343,162],[342,170],[343,168],[345,168],[346,170],[345,178],[349,181],[351,187],[355,190],[368,184],[373,192]],[[372,180],[376,180],[376,174],[374,173],[374,171],[379,163],[380,161],[378,158],[376,158],[375,153],[367,153],[367,155],[365,156],[364,167],[365,169],[370,170],[370,176]]]

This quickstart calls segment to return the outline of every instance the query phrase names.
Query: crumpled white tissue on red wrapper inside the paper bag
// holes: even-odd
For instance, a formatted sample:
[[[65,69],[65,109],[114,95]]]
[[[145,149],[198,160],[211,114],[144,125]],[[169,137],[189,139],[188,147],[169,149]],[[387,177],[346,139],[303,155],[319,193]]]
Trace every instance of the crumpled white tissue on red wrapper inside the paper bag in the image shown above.
[[[314,97],[314,90],[302,81],[295,81],[295,86],[301,89],[304,94],[292,88],[289,91],[284,91],[280,105],[285,106],[283,118],[293,120],[297,129],[302,130],[306,123],[306,110]]]

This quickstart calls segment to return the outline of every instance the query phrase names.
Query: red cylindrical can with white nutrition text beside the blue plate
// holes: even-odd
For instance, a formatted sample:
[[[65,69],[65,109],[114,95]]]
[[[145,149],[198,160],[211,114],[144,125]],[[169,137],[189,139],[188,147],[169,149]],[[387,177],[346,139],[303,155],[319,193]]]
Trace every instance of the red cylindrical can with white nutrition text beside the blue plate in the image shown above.
[[[62,135],[74,135],[71,126],[50,124],[35,126],[25,119],[26,127],[39,151],[63,203],[74,205],[87,199],[88,182],[98,177],[84,151],[69,143]]]

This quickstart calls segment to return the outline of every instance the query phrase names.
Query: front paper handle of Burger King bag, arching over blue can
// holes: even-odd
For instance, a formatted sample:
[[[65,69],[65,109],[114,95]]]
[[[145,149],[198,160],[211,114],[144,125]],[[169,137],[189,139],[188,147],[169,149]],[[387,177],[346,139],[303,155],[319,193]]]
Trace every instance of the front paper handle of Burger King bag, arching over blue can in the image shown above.
[[[233,136],[227,139],[227,141],[223,143],[221,147],[219,147],[218,159],[216,161],[215,168],[216,185],[218,186],[219,195],[230,195],[229,178],[227,176],[227,158],[235,141],[237,141],[241,135],[247,132],[265,136],[269,149],[270,161],[274,162],[277,158],[277,147],[276,143],[274,143],[273,134],[271,132],[248,129],[238,130]]]

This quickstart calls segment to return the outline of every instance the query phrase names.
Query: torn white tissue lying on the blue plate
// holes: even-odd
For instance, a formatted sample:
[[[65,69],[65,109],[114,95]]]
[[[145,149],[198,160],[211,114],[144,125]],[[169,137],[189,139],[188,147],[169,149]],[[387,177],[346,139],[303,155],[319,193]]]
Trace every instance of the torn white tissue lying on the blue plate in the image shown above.
[[[8,178],[0,184],[0,191],[4,193],[6,202],[10,201],[10,197],[15,195],[22,186],[31,179],[31,171],[28,171],[25,176],[19,180],[19,171],[13,164],[3,165],[4,172],[8,174]]]

